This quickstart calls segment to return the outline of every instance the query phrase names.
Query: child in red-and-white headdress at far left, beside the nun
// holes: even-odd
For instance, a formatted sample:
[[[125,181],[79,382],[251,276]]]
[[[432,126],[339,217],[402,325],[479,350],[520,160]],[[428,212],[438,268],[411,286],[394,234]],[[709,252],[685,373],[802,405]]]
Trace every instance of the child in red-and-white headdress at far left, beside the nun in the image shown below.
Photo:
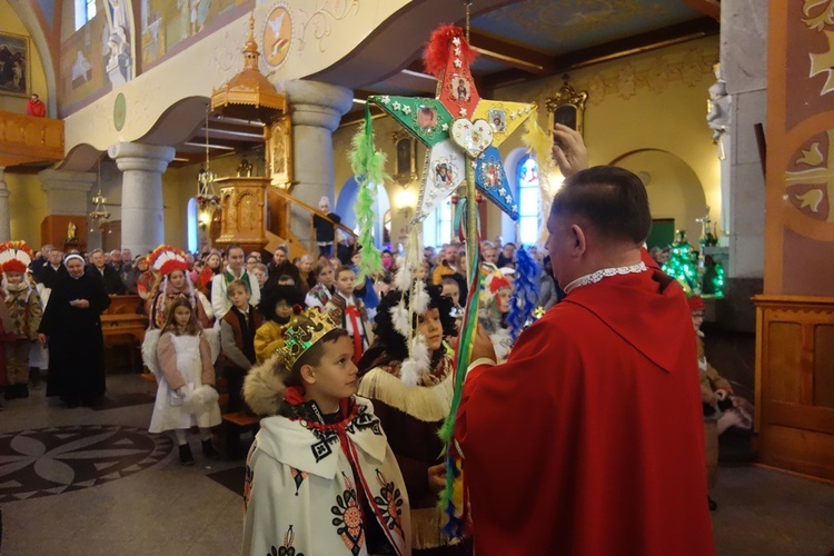
[[[38,339],[43,309],[40,297],[26,279],[32,252],[23,241],[0,245],[4,317],[2,341],[6,344],[6,399],[29,397],[29,351]]]

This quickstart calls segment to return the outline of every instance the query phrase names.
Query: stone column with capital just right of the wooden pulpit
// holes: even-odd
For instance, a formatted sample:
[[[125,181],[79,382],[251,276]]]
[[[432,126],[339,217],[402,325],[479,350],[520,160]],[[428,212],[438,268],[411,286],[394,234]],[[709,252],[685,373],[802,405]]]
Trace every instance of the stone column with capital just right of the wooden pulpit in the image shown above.
[[[350,109],[353,92],[316,81],[287,81],[285,90],[292,106],[292,168],[297,181],[292,197],[318,208],[319,199],[326,196],[332,209],[336,207],[332,132]],[[347,152],[338,156],[347,156]],[[315,245],[315,237],[310,237],[310,214],[290,205],[290,215],[291,232],[305,248]]]

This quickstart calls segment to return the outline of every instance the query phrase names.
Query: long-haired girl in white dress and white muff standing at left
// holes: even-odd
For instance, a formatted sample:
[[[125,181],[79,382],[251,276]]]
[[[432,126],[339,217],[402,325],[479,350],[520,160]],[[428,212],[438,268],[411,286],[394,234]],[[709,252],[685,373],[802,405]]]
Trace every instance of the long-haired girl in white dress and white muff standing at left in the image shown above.
[[[171,302],[162,330],[149,330],[142,345],[145,364],[159,383],[149,431],[173,430],[182,465],[193,465],[186,436],[192,426],[200,429],[203,456],[218,457],[210,430],[220,424],[214,388],[217,344],[216,331],[202,330],[189,300],[180,297]]]

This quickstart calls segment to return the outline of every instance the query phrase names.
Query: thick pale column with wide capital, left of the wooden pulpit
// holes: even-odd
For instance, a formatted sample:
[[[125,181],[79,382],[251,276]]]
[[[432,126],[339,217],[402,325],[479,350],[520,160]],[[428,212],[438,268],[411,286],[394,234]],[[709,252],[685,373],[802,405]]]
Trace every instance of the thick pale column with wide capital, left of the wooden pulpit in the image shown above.
[[[119,142],[107,150],[121,170],[121,245],[148,252],[165,241],[162,172],[173,147]]]

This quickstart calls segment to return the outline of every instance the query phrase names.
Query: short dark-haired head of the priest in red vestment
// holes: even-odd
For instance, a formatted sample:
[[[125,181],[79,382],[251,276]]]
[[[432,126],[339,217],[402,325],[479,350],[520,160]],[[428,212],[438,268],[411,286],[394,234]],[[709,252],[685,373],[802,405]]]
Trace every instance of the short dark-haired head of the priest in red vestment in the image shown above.
[[[565,180],[547,219],[554,276],[566,287],[605,268],[641,262],[652,216],[641,179],[614,166],[596,166]]]

